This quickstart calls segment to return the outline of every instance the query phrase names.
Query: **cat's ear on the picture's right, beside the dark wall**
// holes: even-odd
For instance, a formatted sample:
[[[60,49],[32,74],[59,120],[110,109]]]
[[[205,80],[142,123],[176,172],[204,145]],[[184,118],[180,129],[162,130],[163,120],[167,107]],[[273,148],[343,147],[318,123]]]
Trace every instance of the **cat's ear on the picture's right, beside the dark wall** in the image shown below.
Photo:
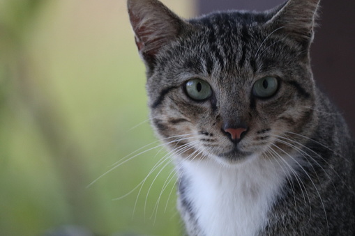
[[[266,24],[308,48],[314,37],[319,1],[289,0],[273,10],[273,17]]]

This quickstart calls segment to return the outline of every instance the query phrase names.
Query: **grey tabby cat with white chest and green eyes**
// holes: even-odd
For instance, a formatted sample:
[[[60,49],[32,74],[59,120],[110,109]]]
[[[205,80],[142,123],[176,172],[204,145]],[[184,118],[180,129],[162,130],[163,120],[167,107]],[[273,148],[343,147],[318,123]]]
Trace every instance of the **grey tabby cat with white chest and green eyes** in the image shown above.
[[[183,20],[128,0],[188,235],[355,235],[354,142],[310,68],[318,5]]]

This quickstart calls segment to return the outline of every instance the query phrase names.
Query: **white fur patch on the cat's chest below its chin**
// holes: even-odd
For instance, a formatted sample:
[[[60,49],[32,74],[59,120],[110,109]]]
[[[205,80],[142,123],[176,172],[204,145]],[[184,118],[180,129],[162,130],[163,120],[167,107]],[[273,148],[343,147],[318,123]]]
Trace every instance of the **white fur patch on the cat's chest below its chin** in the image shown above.
[[[206,236],[254,236],[287,181],[291,163],[250,157],[237,166],[183,161],[190,180],[186,194]]]

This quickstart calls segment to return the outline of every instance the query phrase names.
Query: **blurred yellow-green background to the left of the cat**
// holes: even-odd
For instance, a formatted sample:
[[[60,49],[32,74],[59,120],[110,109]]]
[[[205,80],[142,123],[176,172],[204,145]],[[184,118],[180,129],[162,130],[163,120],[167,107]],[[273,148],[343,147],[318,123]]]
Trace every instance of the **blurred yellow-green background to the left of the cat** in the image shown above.
[[[194,13],[193,1],[163,2]],[[135,189],[166,154],[160,148],[87,187],[156,141],[144,70],[124,0],[0,0],[0,235],[66,225],[181,235],[174,180],[160,199],[173,167],[160,173],[164,162]]]

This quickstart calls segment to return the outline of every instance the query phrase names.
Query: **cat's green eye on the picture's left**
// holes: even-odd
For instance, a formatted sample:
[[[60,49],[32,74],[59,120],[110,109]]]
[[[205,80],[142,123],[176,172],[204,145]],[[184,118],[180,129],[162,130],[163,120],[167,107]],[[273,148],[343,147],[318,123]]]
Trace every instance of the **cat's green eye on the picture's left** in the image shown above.
[[[212,95],[209,83],[202,79],[190,79],[186,82],[186,93],[193,100],[205,100]]]

